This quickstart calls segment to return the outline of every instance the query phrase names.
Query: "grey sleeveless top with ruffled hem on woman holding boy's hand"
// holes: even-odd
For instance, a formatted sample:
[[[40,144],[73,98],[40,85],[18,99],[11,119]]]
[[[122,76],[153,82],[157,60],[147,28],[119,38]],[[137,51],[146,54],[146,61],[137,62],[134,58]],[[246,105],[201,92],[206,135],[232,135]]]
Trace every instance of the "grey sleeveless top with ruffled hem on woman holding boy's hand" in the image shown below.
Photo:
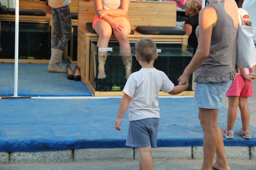
[[[211,35],[210,53],[196,70],[194,82],[228,82],[236,77],[238,10],[235,1],[214,1],[209,4],[217,12]],[[199,40],[198,27],[196,35]]]

